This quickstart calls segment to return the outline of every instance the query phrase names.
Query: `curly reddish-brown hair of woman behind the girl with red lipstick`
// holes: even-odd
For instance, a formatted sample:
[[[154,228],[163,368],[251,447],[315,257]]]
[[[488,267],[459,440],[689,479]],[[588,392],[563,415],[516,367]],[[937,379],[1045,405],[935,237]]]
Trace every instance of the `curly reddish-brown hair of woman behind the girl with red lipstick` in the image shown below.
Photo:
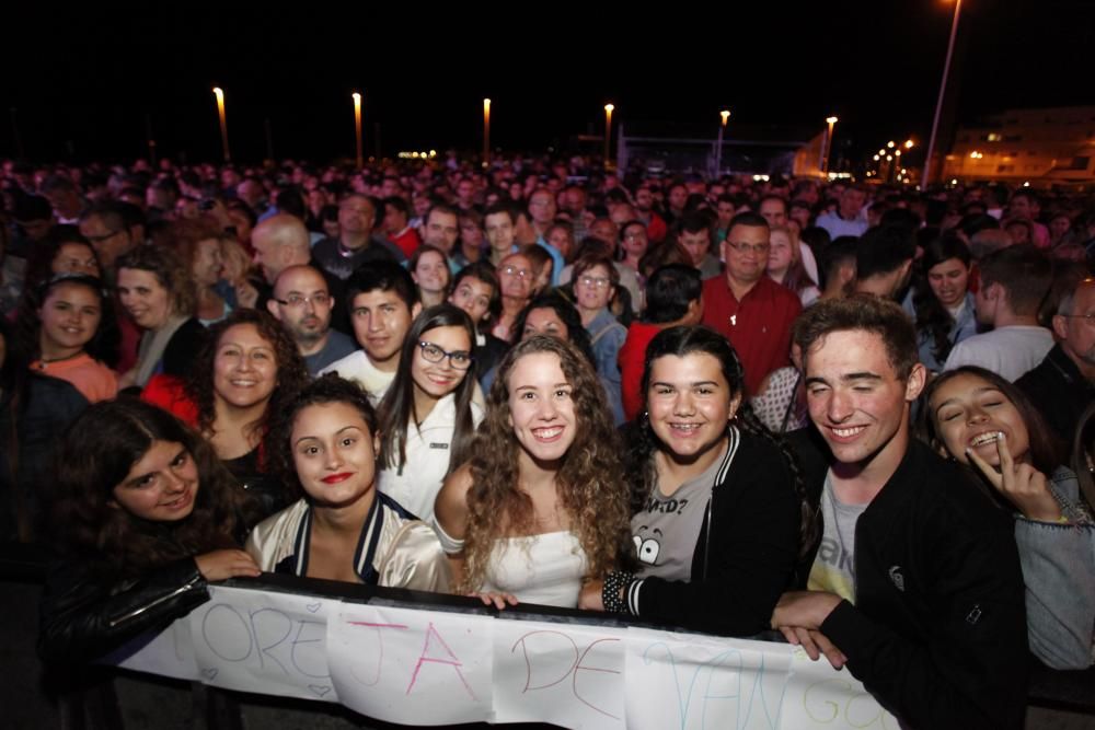
[[[274,357],[277,360],[277,386],[270,394],[269,403],[266,404],[266,410],[263,412],[262,418],[247,425],[250,432],[268,431],[270,414],[276,414],[285,408],[297,396],[300,389],[308,383],[308,368],[304,366],[304,359],[300,356],[297,344],[281,326],[281,323],[261,310],[235,310],[209,328],[209,336],[205,338],[194,361],[194,367],[191,368],[189,374],[183,383],[187,397],[197,406],[197,426],[203,433],[212,432],[212,422],[217,417],[217,396],[214,393],[212,380],[214,361],[217,359],[220,338],[231,327],[242,324],[253,325],[258,331],[258,336],[274,348]]]

